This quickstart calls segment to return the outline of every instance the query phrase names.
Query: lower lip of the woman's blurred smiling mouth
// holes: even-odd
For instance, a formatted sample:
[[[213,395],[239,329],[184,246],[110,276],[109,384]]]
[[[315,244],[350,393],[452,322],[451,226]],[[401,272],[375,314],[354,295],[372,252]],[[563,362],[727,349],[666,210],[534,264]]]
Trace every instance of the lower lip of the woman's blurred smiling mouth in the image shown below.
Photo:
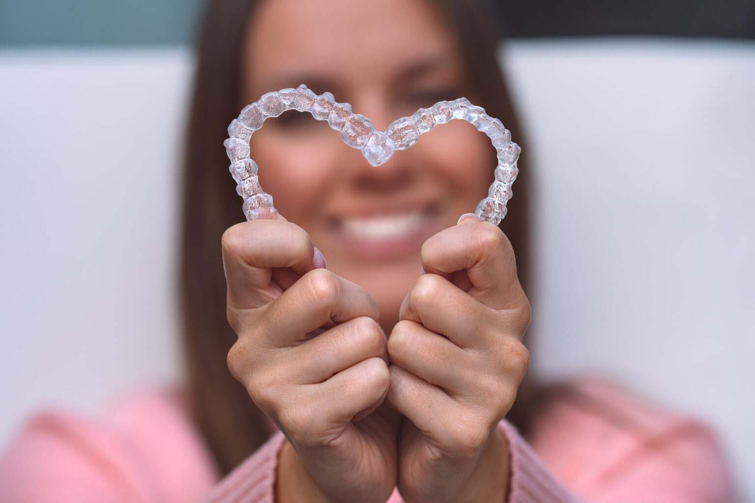
[[[394,259],[399,256],[416,255],[422,244],[436,232],[439,226],[439,212],[425,211],[421,221],[412,232],[395,238],[362,238],[347,234],[341,228],[334,228],[334,237],[350,254],[366,259]]]

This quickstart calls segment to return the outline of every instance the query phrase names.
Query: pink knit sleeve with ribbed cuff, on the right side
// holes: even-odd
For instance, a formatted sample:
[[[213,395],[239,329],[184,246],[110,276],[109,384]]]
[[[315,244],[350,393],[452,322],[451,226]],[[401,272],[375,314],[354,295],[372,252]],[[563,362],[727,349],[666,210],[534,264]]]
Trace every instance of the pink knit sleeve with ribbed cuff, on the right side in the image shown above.
[[[735,501],[726,463],[710,431],[680,420],[659,428],[648,441],[628,433],[550,439],[543,462],[516,429],[501,422],[510,450],[508,503],[731,503]],[[568,432],[567,432],[568,433]],[[557,452],[554,455],[553,452]]]

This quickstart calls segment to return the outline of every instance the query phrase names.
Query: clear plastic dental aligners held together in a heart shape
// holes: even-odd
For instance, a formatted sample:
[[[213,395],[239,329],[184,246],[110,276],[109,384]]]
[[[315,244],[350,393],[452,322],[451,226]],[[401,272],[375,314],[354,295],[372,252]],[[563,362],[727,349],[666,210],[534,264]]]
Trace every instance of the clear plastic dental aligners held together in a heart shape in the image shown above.
[[[306,85],[296,89],[288,87],[264,94],[257,103],[242,110],[239,118],[228,127],[228,140],[223,142],[231,160],[230,172],[236,180],[236,192],[244,198],[243,210],[247,220],[275,219],[278,210],[273,207],[273,197],[262,190],[257,179],[257,163],[249,158],[249,139],[262,127],[268,117],[278,117],[286,110],[310,112],[318,121],[328,121],[330,127],[341,131],[341,138],[348,146],[361,149],[362,155],[372,166],[380,166],[391,158],[396,150],[405,150],[417,143],[422,133],[436,124],[445,124],[451,119],[464,119],[484,132],[498,152],[495,180],[488,189],[488,197],[477,205],[475,216],[479,220],[498,225],[506,216],[506,203],[511,198],[511,184],[519,170],[519,146],[511,142],[511,133],[497,118],[474,106],[467,98],[439,101],[429,109],[419,109],[411,117],[393,121],[385,132],[372,127],[370,119],[351,112],[349,103],[336,103],[330,93],[317,96]]]

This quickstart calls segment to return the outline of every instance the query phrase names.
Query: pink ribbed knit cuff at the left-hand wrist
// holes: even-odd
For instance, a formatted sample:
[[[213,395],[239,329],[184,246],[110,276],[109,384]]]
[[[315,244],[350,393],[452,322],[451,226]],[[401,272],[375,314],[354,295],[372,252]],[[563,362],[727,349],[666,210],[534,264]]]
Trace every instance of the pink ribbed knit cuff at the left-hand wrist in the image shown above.
[[[273,503],[278,454],[285,437],[276,433],[212,489],[206,503]]]

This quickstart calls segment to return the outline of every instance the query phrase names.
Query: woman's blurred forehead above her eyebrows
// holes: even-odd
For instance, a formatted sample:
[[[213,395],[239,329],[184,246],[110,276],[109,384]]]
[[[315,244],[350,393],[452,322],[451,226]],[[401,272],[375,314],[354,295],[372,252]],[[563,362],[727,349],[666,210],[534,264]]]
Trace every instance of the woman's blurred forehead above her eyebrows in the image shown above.
[[[245,41],[254,92],[294,85],[293,78],[356,84],[456,71],[460,63],[454,38],[426,0],[267,0]]]

